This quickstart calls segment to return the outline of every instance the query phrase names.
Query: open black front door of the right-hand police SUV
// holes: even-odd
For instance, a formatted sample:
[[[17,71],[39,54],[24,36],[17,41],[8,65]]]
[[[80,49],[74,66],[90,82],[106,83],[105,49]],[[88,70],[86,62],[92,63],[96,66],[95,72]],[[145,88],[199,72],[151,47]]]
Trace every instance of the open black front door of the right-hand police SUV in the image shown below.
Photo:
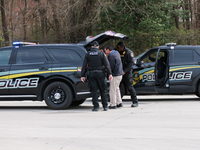
[[[158,49],[154,68],[155,88],[157,93],[168,93],[169,90],[169,61],[168,51]]]

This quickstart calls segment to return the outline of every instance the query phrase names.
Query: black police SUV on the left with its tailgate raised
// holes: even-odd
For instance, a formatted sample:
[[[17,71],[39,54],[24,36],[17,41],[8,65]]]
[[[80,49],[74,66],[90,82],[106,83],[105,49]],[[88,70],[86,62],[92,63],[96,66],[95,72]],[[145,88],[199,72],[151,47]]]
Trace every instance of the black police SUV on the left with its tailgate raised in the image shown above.
[[[45,100],[51,109],[82,104],[91,97],[88,83],[81,81],[90,42],[123,38],[106,31],[79,44],[14,42],[0,48],[0,100]]]

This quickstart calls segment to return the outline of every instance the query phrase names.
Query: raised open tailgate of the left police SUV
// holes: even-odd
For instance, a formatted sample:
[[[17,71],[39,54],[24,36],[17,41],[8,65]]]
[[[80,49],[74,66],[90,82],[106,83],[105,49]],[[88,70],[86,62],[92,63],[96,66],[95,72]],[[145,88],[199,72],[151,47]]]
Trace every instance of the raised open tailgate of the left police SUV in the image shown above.
[[[127,40],[128,39],[128,36],[122,34],[122,33],[116,33],[114,31],[105,31],[104,33],[101,33],[101,34],[98,34],[94,37],[92,36],[87,36],[86,37],[86,40],[84,43],[84,47],[86,49],[90,48],[90,44],[93,42],[93,41],[97,41],[100,45],[105,43],[106,41],[110,40],[110,39],[115,39],[115,40],[119,40],[119,39],[122,39],[122,40]]]

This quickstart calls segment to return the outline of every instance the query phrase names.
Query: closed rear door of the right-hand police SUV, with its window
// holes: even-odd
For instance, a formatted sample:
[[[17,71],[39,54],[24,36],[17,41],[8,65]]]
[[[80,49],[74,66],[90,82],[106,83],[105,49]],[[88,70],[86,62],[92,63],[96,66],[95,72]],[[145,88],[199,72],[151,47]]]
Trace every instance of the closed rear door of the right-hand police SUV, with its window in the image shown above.
[[[170,93],[191,93],[198,83],[200,55],[196,49],[175,47],[171,50]]]

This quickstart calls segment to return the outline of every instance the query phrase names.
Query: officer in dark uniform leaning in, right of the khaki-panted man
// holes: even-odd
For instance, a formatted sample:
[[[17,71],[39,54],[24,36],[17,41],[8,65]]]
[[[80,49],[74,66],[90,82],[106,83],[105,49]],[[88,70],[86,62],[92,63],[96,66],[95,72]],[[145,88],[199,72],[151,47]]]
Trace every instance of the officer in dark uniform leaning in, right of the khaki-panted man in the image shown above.
[[[120,53],[122,64],[123,64],[123,78],[122,83],[127,87],[131,94],[132,105],[131,107],[138,106],[138,99],[136,96],[135,89],[133,87],[133,65],[134,65],[134,54],[133,52],[125,47],[123,42],[117,44],[117,50]]]

